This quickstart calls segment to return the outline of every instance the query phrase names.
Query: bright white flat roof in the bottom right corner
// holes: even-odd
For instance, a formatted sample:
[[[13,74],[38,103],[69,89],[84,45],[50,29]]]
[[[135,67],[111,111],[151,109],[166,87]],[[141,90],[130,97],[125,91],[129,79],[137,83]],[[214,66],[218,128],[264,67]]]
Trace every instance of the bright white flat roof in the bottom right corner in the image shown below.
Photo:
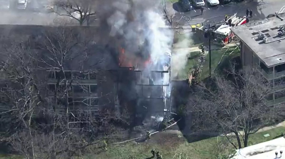
[[[280,157],[280,150],[283,151],[282,157]],[[285,159],[285,138],[276,138],[236,151],[237,153],[231,159],[275,159],[275,152],[278,152],[278,159]]]

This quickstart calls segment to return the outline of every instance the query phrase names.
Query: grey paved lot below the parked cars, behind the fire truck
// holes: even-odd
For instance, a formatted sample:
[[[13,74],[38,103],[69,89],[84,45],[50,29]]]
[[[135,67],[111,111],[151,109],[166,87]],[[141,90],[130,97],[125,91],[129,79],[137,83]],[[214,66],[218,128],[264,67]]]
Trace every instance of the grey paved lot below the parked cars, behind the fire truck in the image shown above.
[[[245,0],[240,3],[229,3],[226,5],[218,5],[216,7],[204,7],[203,16],[200,15],[200,9],[190,12],[179,12],[181,11],[177,3],[172,4],[172,10],[176,11],[176,18],[182,19],[181,22],[185,22],[183,16],[191,17],[191,24],[203,23],[203,22],[217,22],[222,21],[225,15],[233,15],[237,13],[238,16],[245,16],[246,8],[253,11],[253,17],[264,19],[269,14],[278,12],[282,6],[285,5],[284,0]],[[187,19],[187,18],[186,18]]]

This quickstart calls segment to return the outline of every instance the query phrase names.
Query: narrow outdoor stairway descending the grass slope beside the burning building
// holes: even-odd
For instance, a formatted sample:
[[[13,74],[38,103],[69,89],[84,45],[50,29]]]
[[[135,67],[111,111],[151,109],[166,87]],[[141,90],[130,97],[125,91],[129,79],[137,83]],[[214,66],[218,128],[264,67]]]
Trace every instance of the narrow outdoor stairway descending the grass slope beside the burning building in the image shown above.
[[[199,83],[201,72],[203,70],[203,66],[205,64],[207,54],[208,54],[208,52],[205,51],[204,54],[200,55],[200,57],[199,57],[199,59],[197,61],[197,67],[196,67],[196,69],[193,72],[193,77],[194,78],[191,80],[190,87],[192,87],[193,85],[196,85],[196,84]]]

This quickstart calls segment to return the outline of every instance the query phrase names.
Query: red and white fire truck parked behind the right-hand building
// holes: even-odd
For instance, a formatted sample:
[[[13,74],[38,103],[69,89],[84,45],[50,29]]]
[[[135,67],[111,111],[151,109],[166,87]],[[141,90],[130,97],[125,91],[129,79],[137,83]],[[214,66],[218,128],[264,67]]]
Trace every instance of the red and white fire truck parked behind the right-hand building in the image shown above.
[[[231,26],[229,25],[229,19],[231,19]],[[230,28],[233,26],[242,25],[248,22],[246,17],[237,17],[237,13],[231,16],[224,24],[219,26],[214,31],[214,44],[226,45],[233,41],[234,34],[231,32]]]

